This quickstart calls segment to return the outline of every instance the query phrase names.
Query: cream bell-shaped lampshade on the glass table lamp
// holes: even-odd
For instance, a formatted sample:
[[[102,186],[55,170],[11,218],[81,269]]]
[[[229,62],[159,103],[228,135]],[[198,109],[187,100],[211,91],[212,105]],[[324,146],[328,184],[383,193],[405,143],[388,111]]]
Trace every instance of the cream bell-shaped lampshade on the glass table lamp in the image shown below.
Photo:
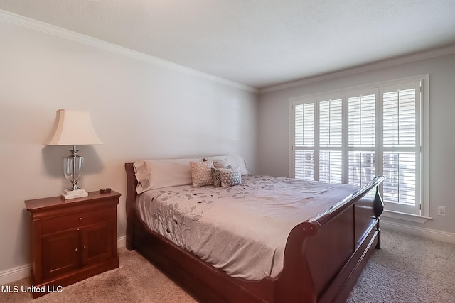
[[[59,109],[50,139],[44,145],[102,144],[93,131],[88,111]]]

